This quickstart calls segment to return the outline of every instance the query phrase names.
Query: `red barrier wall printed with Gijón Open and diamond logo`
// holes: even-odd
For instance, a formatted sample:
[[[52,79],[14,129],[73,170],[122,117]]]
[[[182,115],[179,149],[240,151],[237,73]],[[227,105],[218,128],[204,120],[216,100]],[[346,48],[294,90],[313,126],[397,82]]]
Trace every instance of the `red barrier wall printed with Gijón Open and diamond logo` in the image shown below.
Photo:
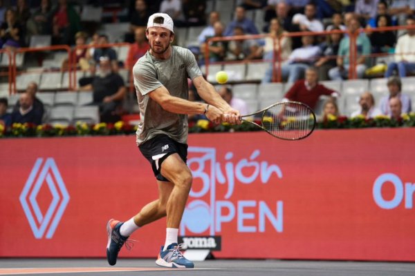
[[[415,128],[190,135],[181,235],[216,257],[415,261]],[[156,199],[134,136],[1,139],[0,256],[104,257],[105,225]],[[123,257],[155,257],[165,219]]]

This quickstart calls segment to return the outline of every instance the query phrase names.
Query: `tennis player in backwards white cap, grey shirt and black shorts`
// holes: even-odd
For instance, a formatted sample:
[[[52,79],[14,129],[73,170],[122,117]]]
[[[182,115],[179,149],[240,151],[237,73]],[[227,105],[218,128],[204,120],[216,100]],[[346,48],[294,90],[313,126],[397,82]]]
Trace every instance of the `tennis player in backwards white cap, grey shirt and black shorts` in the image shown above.
[[[205,81],[190,50],[170,46],[174,39],[172,18],[152,14],[146,36],[150,50],[133,67],[134,86],[140,106],[141,122],[137,144],[149,160],[158,184],[158,199],[121,222],[107,224],[107,259],[116,264],[118,252],[138,228],[167,216],[165,244],[156,264],[170,268],[193,268],[178,246],[178,227],[192,186],[187,159],[187,115],[205,114],[216,124],[240,124],[238,110],[232,109],[214,87]],[[187,78],[192,79],[206,103],[188,101]]]

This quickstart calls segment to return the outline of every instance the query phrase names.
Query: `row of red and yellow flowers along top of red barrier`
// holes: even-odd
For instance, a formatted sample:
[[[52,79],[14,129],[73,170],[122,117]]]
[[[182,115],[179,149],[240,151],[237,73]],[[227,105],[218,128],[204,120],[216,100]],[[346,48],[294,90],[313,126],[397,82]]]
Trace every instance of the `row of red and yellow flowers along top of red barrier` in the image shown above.
[[[264,121],[272,120],[267,117]],[[261,121],[255,120],[257,124]],[[396,127],[414,127],[415,112],[409,115],[403,115],[400,119],[390,119],[387,116],[377,116],[373,119],[366,119],[363,116],[348,118],[328,116],[317,123],[317,129],[335,129],[335,128],[396,128]],[[35,124],[13,124],[11,128],[4,128],[0,124],[0,137],[62,137],[62,136],[85,136],[85,135],[130,135],[134,134],[137,126],[131,126],[123,121],[115,124],[85,124],[77,122],[75,126],[52,126],[44,124],[36,126]],[[189,132],[238,132],[238,131],[258,131],[260,128],[243,122],[241,125],[220,124],[214,125],[211,121],[200,119],[189,122]]]

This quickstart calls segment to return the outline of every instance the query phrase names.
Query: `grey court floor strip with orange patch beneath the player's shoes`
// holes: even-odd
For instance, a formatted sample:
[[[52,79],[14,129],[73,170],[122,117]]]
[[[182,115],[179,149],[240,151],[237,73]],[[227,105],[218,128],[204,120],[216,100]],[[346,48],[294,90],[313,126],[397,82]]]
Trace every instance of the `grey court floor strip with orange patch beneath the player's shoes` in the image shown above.
[[[156,266],[154,259],[0,259],[0,275],[221,275],[221,276],[413,276],[415,263],[280,260],[208,260],[179,270]]]

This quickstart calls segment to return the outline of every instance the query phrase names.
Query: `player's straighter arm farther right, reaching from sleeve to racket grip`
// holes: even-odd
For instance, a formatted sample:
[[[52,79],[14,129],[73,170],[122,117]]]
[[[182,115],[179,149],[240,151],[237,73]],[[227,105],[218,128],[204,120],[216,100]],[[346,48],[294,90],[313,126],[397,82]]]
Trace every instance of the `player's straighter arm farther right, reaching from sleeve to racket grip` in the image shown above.
[[[241,117],[241,113],[239,110],[231,108],[229,104],[222,99],[221,95],[216,92],[212,84],[208,83],[203,76],[195,77],[193,79],[193,84],[202,99],[210,105],[216,106],[216,108],[219,108],[219,110],[223,112],[225,115],[225,117],[223,117],[224,121],[227,121],[230,124],[240,124],[239,117]]]

